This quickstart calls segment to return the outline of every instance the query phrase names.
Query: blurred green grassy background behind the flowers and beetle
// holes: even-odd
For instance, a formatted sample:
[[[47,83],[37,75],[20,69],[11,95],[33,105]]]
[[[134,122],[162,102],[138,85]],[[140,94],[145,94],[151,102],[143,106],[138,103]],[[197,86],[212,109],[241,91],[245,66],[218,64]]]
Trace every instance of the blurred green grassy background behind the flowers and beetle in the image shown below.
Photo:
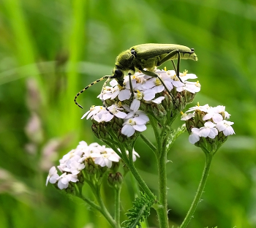
[[[102,83],[79,96],[84,110],[75,94],[109,75],[122,50],[148,42],[194,47],[198,62],[181,61],[181,71],[195,73],[202,86],[189,107],[222,104],[235,122],[236,135],[214,157],[189,227],[256,227],[255,1],[0,0],[0,6],[0,227],[109,227],[80,199],[45,187],[45,179],[80,140],[99,142],[80,117],[101,105]],[[153,153],[142,140],[135,149],[136,166],[157,194]],[[177,227],[204,155],[183,134],[168,159],[170,225]],[[111,205],[111,189],[104,190]],[[134,195],[127,178],[123,210]],[[157,227],[154,210],[148,224]]]

